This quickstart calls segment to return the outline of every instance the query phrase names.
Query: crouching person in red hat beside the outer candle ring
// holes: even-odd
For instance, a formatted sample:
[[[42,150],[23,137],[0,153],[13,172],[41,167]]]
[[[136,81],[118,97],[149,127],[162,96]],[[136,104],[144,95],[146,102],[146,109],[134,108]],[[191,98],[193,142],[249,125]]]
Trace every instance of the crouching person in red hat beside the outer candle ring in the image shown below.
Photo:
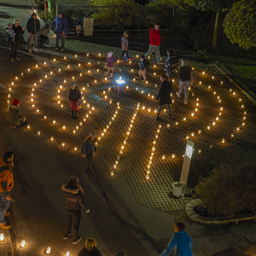
[[[14,99],[9,106],[9,127],[16,128],[26,125],[26,117],[20,114],[20,101]]]

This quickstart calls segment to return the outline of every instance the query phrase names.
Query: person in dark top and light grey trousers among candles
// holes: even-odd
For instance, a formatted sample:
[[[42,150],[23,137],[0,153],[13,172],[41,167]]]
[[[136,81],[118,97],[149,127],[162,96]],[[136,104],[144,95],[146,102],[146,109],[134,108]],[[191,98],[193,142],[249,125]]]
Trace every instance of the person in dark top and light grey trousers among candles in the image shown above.
[[[189,85],[192,85],[192,82],[190,82],[190,72],[191,68],[189,67],[187,59],[181,59],[181,67],[178,71],[179,89],[178,92],[176,92],[176,95],[180,98],[184,87],[184,104],[188,103]]]

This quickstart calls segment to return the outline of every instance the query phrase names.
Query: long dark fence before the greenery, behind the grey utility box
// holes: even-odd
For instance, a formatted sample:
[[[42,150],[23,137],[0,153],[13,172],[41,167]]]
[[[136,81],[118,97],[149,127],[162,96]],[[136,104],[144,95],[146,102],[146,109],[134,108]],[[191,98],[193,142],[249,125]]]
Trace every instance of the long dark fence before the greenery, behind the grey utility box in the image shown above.
[[[174,26],[174,9],[166,6],[156,9],[141,6],[74,6],[58,5],[57,12],[67,17],[68,31],[75,26],[84,27],[84,17],[95,18],[96,29],[115,30],[129,28],[140,30],[160,23],[161,28],[170,29]]]

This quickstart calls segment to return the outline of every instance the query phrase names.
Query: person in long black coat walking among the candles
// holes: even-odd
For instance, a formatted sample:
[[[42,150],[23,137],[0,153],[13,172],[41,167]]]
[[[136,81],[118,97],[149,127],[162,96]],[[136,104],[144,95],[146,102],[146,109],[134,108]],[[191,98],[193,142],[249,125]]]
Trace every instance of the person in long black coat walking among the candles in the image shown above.
[[[162,110],[162,108],[164,107],[164,105],[167,106],[168,109],[168,113],[170,118],[172,119],[172,113],[171,113],[171,104],[172,104],[172,99],[171,99],[171,92],[172,92],[172,81],[171,83],[168,82],[167,77],[165,74],[163,74],[160,77],[160,81],[161,81],[161,88],[160,88],[160,92],[158,94],[158,96],[156,97],[155,101],[157,101],[160,98],[160,106],[158,108],[158,112],[156,115],[156,119],[160,119],[160,112]]]

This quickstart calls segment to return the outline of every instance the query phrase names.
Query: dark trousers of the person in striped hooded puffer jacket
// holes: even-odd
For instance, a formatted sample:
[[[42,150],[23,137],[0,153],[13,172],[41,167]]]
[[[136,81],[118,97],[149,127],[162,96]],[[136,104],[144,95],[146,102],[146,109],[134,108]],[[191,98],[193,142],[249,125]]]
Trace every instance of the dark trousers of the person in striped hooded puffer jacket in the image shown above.
[[[72,233],[72,241],[77,241],[79,237],[79,224],[81,218],[81,210],[70,211],[66,209],[66,220],[64,223],[63,237]]]

